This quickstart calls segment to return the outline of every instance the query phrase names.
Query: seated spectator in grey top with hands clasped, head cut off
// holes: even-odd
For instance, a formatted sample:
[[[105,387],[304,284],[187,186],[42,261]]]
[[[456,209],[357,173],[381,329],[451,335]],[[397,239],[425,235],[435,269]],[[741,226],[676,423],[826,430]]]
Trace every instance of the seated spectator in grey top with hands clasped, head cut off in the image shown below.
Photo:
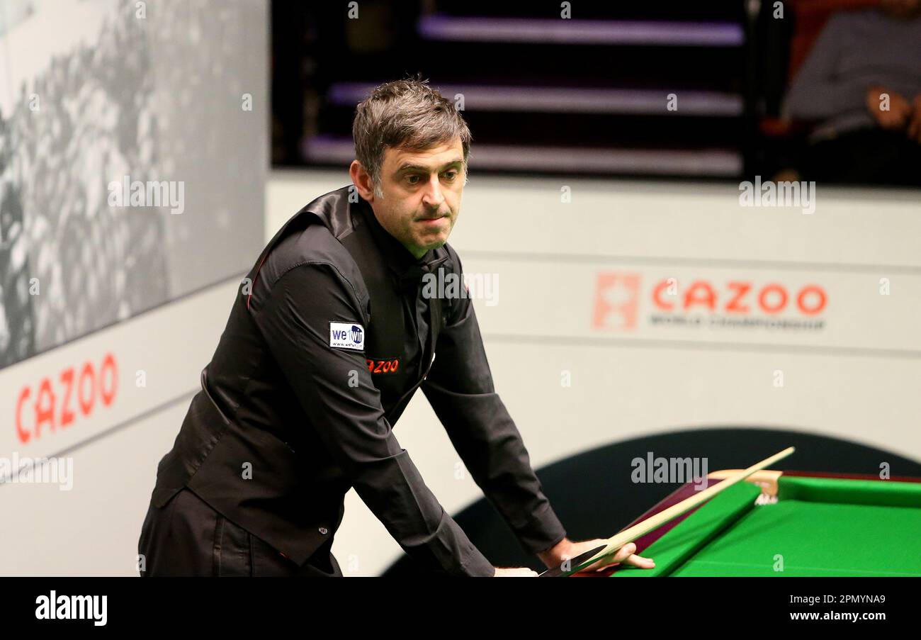
[[[787,93],[803,180],[921,184],[921,0],[834,15]]]

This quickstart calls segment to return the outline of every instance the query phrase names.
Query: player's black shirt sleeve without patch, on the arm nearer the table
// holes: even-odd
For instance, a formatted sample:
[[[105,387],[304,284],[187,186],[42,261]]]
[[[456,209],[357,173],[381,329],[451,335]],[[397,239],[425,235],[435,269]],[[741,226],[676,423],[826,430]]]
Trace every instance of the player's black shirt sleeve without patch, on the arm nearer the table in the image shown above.
[[[530,467],[518,427],[495,393],[471,299],[451,302],[454,312],[438,335],[422,390],[474,482],[521,546],[529,553],[546,551],[563,540],[565,529]]]

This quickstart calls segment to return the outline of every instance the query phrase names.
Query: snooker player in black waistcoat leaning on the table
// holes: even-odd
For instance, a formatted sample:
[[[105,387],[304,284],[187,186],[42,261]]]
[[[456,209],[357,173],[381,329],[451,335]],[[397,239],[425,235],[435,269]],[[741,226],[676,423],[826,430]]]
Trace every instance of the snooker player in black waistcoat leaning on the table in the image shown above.
[[[421,388],[520,543],[554,566],[573,542],[493,389],[470,297],[426,297],[461,273],[446,244],[471,134],[424,81],[358,105],[353,185],[305,206],[244,280],[202,390],[160,461],[142,575],[341,576],[330,552],[350,487],[402,549],[454,576],[496,569],[438,504],[393,435]],[[437,358],[436,358],[437,353]],[[606,563],[651,566],[624,547]]]

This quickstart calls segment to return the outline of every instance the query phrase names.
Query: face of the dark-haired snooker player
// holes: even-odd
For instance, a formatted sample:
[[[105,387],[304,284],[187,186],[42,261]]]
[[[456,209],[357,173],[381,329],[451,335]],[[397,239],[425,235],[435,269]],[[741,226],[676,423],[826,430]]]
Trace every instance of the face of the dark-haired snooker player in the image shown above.
[[[465,179],[460,138],[428,149],[389,147],[380,170],[383,197],[372,194],[369,202],[380,226],[420,258],[448,241]]]

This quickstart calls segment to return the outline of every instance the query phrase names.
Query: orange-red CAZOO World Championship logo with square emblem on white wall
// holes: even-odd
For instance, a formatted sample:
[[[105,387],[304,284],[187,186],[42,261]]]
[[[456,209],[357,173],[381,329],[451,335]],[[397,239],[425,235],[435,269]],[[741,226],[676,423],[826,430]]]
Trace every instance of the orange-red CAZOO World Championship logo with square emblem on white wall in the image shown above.
[[[815,332],[825,326],[828,293],[821,284],[777,277],[596,275],[592,329],[643,327]]]

